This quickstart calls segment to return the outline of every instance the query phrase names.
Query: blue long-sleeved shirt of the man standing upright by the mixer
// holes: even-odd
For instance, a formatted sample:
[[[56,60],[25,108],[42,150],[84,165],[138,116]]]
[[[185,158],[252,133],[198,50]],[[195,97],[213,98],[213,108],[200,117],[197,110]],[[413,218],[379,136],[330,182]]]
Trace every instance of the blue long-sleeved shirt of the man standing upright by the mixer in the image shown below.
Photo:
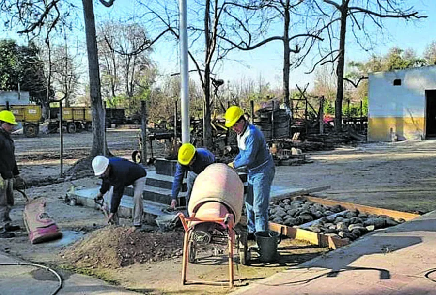
[[[234,158],[234,168],[247,167],[255,171],[270,158],[264,134],[254,125],[247,123],[242,134],[237,136],[239,154]]]

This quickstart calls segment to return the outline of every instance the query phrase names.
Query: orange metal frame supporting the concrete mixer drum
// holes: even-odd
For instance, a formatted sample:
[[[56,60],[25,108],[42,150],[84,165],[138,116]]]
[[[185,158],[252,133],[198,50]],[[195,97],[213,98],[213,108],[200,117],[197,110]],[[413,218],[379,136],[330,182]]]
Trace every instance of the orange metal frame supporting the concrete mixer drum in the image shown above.
[[[207,203],[206,203],[207,204]],[[225,206],[221,204],[223,208]],[[228,247],[229,247],[229,287],[233,288],[234,284],[234,263],[233,263],[233,244],[234,244],[234,216],[227,213],[224,217],[185,217],[183,213],[177,215],[182,221],[183,228],[185,229],[185,237],[183,240],[183,258],[182,258],[182,285],[187,283],[191,284],[211,284],[222,285],[221,282],[215,281],[187,281],[187,264],[188,264],[188,245],[189,234],[194,230],[194,226],[201,222],[215,222],[227,229],[228,233]]]

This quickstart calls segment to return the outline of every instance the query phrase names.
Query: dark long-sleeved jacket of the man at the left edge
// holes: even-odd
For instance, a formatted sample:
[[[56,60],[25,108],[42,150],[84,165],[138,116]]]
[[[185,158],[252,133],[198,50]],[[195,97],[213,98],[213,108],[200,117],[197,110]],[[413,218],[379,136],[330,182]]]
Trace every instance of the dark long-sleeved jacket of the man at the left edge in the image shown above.
[[[3,179],[10,179],[18,174],[14,140],[6,130],[0,127],[0,175]]]

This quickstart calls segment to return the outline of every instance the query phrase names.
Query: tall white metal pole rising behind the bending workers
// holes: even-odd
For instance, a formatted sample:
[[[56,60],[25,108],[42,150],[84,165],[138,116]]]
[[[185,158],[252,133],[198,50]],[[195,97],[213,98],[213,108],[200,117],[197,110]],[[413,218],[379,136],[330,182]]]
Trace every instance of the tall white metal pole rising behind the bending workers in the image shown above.
[[[189,142],[189,97],[187,54],[187,0],[179,0],[180,31],[180,98],[182,112],[182,143]]]

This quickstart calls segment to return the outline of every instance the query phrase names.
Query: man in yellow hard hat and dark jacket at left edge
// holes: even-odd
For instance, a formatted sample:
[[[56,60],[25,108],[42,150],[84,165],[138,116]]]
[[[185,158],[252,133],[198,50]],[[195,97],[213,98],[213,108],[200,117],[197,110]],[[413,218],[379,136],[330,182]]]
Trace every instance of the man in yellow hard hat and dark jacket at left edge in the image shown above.
[[[17,125],[15,116],[8,110],[0,111],[0,238],[14,237],[12,233],[19,226],[11,225],[9,211],[14,205],[14,187],[22,184],[23,180],[18,175],[15,160],[15,146],[11,133]]]

